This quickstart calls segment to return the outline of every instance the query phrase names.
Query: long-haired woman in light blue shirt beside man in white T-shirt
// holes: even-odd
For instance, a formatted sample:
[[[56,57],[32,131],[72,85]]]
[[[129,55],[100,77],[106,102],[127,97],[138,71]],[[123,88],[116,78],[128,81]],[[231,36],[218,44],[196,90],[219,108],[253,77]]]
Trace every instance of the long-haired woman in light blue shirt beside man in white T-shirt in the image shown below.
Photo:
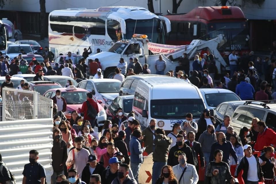
[[[238,135],[233,134],[230,137],[230,142],[234,147],[234,150],[237,154],[238,157],[238,161],[240,162],[241,159],[244,157],[244,150],[242,147],[242,143],[241,143],[241,139],[239,138]],[[236,170],[236,162],[234,160],[234,158],[230,155],[229,157],[230,159],[230,172],[232,176],[235,176],[235,170]]]

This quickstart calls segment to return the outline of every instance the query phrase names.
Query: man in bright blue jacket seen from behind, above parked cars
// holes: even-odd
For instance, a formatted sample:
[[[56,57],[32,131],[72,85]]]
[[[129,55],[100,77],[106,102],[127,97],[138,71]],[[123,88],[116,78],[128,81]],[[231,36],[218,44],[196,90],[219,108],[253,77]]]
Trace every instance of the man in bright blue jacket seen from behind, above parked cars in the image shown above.
[[[244,77],[241,77],[235,93],[241,98],[241,100],[254,100],[253,95],[255,89],[251,84],[245,82]]]

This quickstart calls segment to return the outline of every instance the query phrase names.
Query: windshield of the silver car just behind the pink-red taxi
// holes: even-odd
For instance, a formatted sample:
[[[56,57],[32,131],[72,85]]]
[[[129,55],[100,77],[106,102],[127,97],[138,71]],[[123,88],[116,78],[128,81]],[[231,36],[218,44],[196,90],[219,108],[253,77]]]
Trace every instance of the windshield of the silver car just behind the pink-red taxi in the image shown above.
[[[99,82],[95,85],[99,93],[119,93],[122,82]]]

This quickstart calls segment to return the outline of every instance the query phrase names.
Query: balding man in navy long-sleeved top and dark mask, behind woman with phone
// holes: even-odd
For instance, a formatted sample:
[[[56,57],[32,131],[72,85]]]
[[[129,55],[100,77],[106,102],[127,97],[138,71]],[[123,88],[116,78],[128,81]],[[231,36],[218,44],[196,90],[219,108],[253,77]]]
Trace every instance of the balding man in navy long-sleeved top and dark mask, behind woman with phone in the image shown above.
[[[215,150],[222,150],[223,151],[223,158],[222,161],[226,162],[228,165],[230,165],[230,159],[229,156],[231,154],[231,156],[234,158],[235,162],[236,162],[236,166],[238,165],[238,157],[237,154],[233,148],[233,145],[231,144],[230,141],[226,141],[226,136],[223,132],[219,132],[217,134],[218,137],[218,141],[213,143],[211,146],[211,152],[210,152],[210,156],[209,156],[209,162],[214,160],[214,151]]]

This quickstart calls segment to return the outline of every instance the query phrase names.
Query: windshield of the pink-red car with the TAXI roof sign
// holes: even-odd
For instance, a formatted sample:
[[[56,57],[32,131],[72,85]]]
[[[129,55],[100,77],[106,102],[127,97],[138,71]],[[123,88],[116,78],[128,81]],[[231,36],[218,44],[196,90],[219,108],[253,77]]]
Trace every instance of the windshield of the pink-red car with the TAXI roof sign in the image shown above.
[[[86,91],[66,91],[62,92],[61,96],[65,98],[67,105],[83,104],[86,101]]]

